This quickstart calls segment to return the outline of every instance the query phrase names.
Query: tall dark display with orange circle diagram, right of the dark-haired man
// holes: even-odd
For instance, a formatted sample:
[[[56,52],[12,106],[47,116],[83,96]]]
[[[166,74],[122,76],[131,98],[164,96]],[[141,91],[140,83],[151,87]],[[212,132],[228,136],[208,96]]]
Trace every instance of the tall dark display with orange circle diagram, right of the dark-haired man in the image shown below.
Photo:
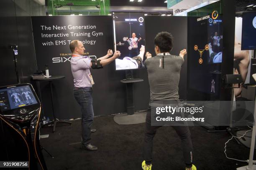
[[[216,2],[198,9],[196,15],[188,13],[188,90],[215,99],[220,96],[224,38],[219,6]]]

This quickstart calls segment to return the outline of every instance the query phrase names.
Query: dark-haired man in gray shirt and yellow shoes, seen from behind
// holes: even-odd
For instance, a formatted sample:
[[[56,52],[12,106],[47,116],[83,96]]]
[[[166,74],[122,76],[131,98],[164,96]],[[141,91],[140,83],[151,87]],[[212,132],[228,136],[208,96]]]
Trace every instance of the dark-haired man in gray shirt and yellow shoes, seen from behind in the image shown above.
[[[151,170],[153,140],[156,131],[161,126],[151,126],[151,109],[154,110],[155,105],[151,103],[155,101],[177,101],[179,100],[179,77],[184,55],[187,50],[182,50],[179,56],[171,55],[169,52],[173,47],[173,37],[169,32],[159,32],[155,39],[156,56],[152,57],[149,52],[146,52],[146,60],[144,65],[148,71],[148,82],[150,87],[150,105],[146,115],[146,130],[144,134],[143,144],[143,170]],[[164,60],[164,61],[163,61]],[[182,148],[186,170],[196,170],[193,161],[193,146],[190,138],[188,126],[173,126],[179,138],[182,140]],[[174,140],[170,140],[172,143]],[[171,167],[169,169],[172,169]]]

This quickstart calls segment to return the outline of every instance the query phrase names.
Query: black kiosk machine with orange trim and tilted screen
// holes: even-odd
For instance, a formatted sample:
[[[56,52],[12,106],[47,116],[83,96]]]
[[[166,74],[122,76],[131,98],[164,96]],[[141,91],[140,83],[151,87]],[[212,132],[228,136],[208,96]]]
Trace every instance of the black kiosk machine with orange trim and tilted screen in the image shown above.
[[[31,84],[0,87],[0,166],[47,170],[39,143],[41,104]]]

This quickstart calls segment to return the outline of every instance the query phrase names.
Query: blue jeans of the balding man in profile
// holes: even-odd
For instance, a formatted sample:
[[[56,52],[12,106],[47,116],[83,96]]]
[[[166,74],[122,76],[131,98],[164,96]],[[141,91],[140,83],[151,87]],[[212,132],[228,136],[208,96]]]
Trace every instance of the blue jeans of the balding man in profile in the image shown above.
[[[86,146],[91,140],[91,127],[94,118],[92,87],[74,88],[74,97],[82,111],[82,145]]]

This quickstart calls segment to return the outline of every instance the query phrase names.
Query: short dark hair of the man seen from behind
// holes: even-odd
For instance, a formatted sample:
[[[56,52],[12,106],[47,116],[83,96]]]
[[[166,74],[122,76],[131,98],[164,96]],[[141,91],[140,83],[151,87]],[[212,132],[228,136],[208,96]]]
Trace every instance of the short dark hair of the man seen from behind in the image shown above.
[[[172,34],[169,32],[159,32],[155,37],[155,45],[157,45],[161,52],[170,52],[172,50]]]

